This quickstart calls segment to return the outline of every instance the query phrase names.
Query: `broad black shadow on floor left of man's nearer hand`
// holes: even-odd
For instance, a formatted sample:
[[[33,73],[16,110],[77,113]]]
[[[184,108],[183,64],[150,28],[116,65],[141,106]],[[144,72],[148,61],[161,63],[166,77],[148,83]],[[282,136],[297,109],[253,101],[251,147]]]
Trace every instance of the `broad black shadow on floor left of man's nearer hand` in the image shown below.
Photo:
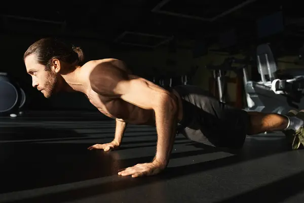
[[[117,153],[93,153],[87,144],[1,144],[0,148],[0,180],[5,185],[0,193],[112,175],[118,160]]]

